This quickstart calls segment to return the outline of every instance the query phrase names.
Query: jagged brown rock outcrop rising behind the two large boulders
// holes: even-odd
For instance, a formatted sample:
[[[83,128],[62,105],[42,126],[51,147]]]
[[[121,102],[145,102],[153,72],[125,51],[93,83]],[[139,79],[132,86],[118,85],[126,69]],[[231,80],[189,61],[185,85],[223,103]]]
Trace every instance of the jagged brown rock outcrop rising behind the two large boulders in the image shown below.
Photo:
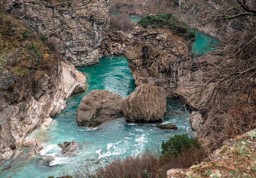
[[[190,78],[191,52],[184,39],[170,29],[132,31],[126,58],[135,84],[160,85],[172,90]]]

